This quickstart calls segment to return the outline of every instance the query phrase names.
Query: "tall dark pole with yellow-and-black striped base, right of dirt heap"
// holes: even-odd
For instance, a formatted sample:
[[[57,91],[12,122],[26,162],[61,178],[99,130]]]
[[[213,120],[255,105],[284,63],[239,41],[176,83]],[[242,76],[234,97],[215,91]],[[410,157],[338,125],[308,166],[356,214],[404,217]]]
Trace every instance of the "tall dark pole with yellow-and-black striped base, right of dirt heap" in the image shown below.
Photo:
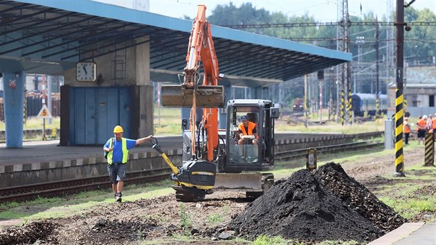
[[[403,156],[403,62],[404,62],[404,1],[397,0],[397,69],[395,73],[395,177],[404,175]]]

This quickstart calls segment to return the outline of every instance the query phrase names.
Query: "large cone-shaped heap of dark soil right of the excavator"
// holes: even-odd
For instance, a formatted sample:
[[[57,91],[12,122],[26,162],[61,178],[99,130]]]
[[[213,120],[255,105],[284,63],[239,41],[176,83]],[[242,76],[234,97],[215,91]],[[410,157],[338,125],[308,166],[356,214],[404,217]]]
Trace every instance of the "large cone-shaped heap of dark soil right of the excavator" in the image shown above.
[[[372,241],[405,219],[349,177],[327,163],[314,172],[299,170],[276,182],[230,222],[241,235],[280,235],[288,239]]]

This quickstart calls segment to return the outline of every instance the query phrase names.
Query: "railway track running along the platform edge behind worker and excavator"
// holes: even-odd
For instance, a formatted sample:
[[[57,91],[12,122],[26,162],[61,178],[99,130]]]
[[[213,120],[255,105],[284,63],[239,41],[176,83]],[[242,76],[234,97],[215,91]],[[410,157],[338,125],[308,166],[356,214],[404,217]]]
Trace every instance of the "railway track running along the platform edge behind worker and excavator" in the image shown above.
[[[317,152],[343,152],[345,150],[367,149],[369,147],[380,147],[383,143],[375,141],[360,141],[353,143],[344,143],[339,145],[326,145],[316,147]],[[306,156],[307,149],[295,149],[286,152],[276,152],[276,161],[288,161],[292,158]],[[128,172],[127,179],[129,183],[149,183],[161,181],[170,176],[169,168],[155,170]],[[38,197],[56,197],[66,194],[74,194],[84,190],[99,190],[111,188],[109,178],[105,176],[96,176],[84,179],[72,179],[66,181],[53,181],[33,185],[20,185],[11,188],[0,189],[0,203],[10,201],[28,201]]]

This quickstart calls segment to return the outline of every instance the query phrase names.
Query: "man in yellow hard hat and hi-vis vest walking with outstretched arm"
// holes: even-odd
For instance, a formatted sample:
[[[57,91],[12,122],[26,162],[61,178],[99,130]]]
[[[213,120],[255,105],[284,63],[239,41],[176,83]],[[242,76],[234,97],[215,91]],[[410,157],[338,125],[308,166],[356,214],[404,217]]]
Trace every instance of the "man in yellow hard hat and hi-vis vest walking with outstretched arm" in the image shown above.
[[[105,158],[107,158],[107,172],[112,181],[113,194],[116,201],[122,200],[122,187],[124,186],[124,179],[126,177],[126,163],[129,156],[129,149],[147,142],[152,138],[149,135],[145,138],[138,138],[131,140],[122,137],[122,127],[117,125],[113,128],[113,135],[115,137],[109,138],[103,147],[105,151]]]

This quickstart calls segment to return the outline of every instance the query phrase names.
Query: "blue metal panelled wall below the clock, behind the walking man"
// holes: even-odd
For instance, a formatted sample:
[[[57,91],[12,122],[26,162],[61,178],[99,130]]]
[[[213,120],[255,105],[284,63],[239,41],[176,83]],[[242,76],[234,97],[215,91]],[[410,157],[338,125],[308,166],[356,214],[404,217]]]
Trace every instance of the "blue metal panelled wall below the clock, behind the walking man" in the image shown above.
[[[116,125],[130,136],[129,87],[71,88],[70,145],[103,145]]]

